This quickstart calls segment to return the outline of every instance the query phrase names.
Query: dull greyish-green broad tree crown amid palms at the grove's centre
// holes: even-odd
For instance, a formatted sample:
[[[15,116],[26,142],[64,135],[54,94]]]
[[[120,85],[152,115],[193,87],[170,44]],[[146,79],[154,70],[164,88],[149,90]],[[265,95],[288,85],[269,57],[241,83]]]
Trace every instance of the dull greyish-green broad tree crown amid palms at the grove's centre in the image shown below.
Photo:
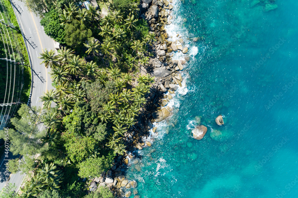
[[[95,82],[82,83],[82,87],[87,92],[87,98],[90,100],[91,111],[99,112],[102,106],[110,99],[110,93],[117,93],[117,88],[113,81],[107,81],[105,85],[100,83],[99,79]]]

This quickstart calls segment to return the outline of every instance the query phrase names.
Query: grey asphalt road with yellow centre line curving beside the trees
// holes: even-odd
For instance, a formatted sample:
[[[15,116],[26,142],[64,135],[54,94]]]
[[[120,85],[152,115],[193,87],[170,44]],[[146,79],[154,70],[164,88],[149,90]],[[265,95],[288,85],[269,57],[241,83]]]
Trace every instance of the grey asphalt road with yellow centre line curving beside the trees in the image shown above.
[[[34,15],[28,8],[25,6],[25,3],[18,0],[12,0],[15,13],[20,23],[20,28],[23,30],[26,37],[26,42],[28,45],[28,53],[32,61],[33,69],[33,88],[31,96],[31,106],[40,106],[43,108],[43,103],[40,102],[40,96],[43,95],[43,92],[46,90],[53,89],[52,81],[49,77],[50,68],[46,69],[44,64],[41,65],[42,60],[39,59],[40,53],[43,52],[43,49],[54,49],[54,41],[44,33],[43,27],[40,25],[40,19]],[[43,126],[39,126],[39,129],[43,129]],[[9,157],[3,158],[0,161],[3,162],[0,166],[0,189],[5,185],[5,163],[7,159],[19,158],[19,156],[13,156],[9,152]],[[24,174],[10,174],[9,182],[15,183],[17,189],[21,186],[21,183],[24,179]]]

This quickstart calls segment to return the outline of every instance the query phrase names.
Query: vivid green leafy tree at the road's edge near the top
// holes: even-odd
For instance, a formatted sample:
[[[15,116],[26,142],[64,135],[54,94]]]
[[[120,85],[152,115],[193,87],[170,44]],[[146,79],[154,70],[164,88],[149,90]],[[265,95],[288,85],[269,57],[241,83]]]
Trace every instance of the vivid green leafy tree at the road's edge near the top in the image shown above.
[[[64,44],[65,32],[63,26],[60,25],[60,15],[56,10],[51,10],[44,14],[44,18],[41,19],[40,24],[44,26],[44,32],[52,37],[55,41]]]

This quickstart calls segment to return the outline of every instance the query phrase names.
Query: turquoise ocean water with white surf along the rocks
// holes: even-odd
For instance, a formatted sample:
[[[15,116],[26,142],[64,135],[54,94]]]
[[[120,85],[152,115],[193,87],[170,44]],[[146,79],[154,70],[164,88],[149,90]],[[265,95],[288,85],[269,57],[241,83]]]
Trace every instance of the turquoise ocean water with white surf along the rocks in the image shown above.
[[[166,29],[182,36],[190,62],[173,116],[155,123],[152,146],[126,170],[142,198],[298,197],[298,4],[251,3],[174,0]],[[208,128],[202,140],[192,138],[196,116]]]

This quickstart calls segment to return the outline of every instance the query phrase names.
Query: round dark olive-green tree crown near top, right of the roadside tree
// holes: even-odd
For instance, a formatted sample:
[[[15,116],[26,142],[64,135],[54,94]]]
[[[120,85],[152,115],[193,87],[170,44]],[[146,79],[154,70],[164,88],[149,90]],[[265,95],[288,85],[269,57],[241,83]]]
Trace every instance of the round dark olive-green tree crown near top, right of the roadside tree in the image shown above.
[[[85,40],[92,37],[91,30],[76,20],[73,20],[70,24],[66,24],[64,29],[66,44],[75,49],[82,47]]]

